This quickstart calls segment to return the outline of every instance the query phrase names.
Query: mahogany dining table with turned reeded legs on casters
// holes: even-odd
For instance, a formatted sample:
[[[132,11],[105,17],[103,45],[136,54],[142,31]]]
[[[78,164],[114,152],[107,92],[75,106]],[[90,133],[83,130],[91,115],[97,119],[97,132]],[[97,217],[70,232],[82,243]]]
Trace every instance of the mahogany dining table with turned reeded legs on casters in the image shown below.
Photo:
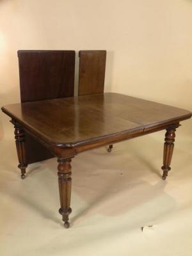
[[[192,115],[184,109],[119,93],[97,93],[9,104],[3,106],[2,111],[10,116],[15,126],[22,178],[25,177],[28,166],[26,133],[42,143],[57,158],[61,204],[59,212],[66,228],[70,227],[68,215],[72,212],[70,197],[73,157],[86,150],[165,129],[161,169],[163,179],[166,179],[171,169],[175,130],[180,121],[191,118]]]

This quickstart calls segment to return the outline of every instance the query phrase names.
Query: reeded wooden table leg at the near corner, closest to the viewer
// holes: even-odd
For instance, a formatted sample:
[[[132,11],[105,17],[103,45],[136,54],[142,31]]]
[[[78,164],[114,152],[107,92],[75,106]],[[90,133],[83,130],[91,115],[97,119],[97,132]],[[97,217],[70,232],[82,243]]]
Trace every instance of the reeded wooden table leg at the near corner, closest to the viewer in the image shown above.
[[[58,159],[58,181],[60,189],[60,214],[63,217],[64,226],[70,227],[68,222],[68,215],[72,212],[70,208],[70,196],[71,196],[71,159]]]

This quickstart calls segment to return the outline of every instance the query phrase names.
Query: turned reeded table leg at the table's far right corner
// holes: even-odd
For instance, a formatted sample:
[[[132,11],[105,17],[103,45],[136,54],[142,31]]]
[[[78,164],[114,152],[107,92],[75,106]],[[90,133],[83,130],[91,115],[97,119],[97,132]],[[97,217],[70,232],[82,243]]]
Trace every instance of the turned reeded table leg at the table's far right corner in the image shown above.
[[[165,180],[168,172],[171,170],[170,164],[172,161],[174,141],[175,141],[175,131],[179,125],[175,125],[172,127],[168,127],[166,129],[165,139],[164,139],[164,153],[163,153],[163,166],[161,169],[163,170],[162,179]]]

